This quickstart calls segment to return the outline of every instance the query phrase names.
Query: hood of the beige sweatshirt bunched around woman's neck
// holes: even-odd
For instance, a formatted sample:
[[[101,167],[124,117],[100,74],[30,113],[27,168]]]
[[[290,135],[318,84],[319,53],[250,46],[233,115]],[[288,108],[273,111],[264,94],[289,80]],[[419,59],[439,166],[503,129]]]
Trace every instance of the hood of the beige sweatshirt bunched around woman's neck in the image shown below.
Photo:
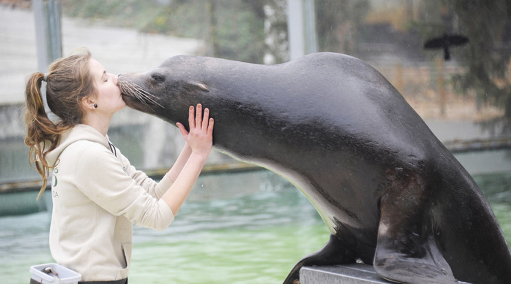
[[[46,161],[48,165],[53,167],[56,164],[60,153],[62,153],[67,146],[71,145],[71,143],[80,140],[100,143],[101,145],[104,145],[106,149],[111,150],[108,136],[104,137],[92,126],[87,126],[86,124],[77,124],[73,128],[64,132],[60,137],[60,143],[58,143],[58,146],[52,150],[52,152],[48,152],[46,154]]]

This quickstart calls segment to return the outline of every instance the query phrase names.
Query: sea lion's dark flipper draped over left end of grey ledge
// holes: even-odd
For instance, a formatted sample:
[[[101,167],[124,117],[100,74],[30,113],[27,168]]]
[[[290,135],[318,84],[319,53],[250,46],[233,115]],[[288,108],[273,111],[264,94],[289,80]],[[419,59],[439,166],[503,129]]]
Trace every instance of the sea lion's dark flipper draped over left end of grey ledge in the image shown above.
[[[295,267],[286,277],[284,284],[298,283],[300,268],[303,266],[355,263],[355,261],[356,257],[352,250],[346,248],[343,242],[336,236],[330,235],[330,240],[321,250],[304,257],[296,263]]]

